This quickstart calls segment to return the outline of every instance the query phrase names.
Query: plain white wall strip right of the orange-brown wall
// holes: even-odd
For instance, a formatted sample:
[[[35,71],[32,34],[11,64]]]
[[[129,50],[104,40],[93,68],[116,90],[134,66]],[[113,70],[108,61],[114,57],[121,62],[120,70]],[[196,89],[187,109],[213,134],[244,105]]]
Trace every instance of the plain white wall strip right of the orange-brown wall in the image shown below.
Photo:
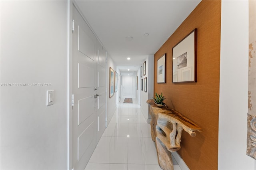
[[[218,169],[255,169],[246,156],[248,1],[222,1]]]

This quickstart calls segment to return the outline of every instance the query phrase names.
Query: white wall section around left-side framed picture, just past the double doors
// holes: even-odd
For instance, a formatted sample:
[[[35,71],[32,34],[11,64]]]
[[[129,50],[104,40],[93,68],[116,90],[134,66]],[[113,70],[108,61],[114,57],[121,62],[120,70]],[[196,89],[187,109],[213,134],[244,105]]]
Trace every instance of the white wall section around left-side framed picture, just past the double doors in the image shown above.
[[[116,106],[119,102],[119,93],[118,91],[120,89],[118,89],[118,91],[116,93],[114,93],[114,96],[112,96],[111,98],[109,98],[109,68],[114,69],[114,71],[117,71],[118,74],[120,74],[119,69],[116,67],[116,64],[114,63],[113,59],[110,57],[110,55],[108,55],[108,63],[107,63],[107,125],[109,124],[113,114],[116,111]]]

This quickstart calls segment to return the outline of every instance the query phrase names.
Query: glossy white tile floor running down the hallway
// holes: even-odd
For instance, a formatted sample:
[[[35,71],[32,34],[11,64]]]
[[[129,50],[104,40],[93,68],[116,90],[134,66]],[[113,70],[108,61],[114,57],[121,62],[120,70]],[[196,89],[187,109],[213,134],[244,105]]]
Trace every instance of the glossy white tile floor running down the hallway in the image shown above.
[[[140,105],[120,101],[85,170],[161,170]],[[133,98],[133,102],[135,99]],[[172,158],[174,170],[180,170]]]

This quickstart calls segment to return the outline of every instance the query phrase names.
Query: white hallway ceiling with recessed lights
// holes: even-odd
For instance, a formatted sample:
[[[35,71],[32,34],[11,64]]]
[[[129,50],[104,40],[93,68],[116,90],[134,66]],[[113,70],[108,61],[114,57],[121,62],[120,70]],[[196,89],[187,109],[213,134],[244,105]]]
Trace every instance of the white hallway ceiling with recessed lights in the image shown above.
[[[154,55],[200,0],[77,0],[86,21],[121,73]],[[149,34],[149,36],[144,36]],[[132,36],[131,41],[126,40]],[[127,57],[131,59],[128,61]]]

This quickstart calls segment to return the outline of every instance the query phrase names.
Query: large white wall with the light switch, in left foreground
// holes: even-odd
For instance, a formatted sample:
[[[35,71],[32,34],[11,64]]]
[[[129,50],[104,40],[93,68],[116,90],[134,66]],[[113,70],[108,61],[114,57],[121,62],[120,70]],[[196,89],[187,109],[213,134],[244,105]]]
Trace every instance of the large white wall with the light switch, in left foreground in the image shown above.
[[[67,169],[68,1],[1,1],[1,169]],[[46,107],[46,90],[55,103]]]

